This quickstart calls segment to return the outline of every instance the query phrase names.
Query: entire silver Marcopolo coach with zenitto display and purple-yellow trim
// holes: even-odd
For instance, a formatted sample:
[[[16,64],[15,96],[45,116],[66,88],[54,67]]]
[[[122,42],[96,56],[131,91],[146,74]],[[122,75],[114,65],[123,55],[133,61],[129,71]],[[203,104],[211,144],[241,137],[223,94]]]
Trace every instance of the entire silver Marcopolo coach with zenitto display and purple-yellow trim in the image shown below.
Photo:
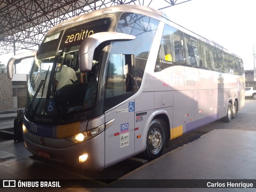
[[[111,6],[58,24],[37,52],[10,59],[9,78],[28,57],[24,144],[84,170],[142,152],[157,158],[169,140],[229,122],[245,103],[242,59],[149,7]]]

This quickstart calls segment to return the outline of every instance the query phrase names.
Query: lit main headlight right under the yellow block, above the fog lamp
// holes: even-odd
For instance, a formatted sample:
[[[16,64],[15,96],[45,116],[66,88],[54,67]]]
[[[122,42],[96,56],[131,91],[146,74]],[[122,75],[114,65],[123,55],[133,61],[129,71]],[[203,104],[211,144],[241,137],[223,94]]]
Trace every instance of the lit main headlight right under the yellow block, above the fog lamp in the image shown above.
[[[92,137],[95,137],[96,135],[99,135],[104,131],[104,129],[105,129],[105,124],[100,125],[99,127],[96,127],[90,131],[85,131],[85,132],[73,135],[71,137],[67,137],[66,139],[72,143],[81,143]]]

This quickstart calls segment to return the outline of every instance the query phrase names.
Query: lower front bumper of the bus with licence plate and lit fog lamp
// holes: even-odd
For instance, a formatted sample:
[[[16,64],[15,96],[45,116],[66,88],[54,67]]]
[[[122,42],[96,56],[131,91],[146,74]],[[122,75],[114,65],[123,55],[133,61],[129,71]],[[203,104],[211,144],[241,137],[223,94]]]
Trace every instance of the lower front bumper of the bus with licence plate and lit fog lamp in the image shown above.
[[[104,135],[105,133],[102,132],[87,141],[63,148],[53,148],[34,143],[24,133],[23,138],[26,148],[35,156],[57,164],[89,171],[98,171],[104,169],[105,166]],[[79,162],[79,157],[82,155],[87,156],[87,159],[84,162]]]

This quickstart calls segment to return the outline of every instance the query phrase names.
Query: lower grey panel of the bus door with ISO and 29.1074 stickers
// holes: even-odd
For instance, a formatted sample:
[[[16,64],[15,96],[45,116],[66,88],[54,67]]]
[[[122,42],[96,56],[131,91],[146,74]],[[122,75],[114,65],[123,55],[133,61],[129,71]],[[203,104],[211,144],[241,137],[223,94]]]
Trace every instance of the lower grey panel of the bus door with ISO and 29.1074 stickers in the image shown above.
[[[105,114],[105,167],[125,160],[134,155],[134,100]]]

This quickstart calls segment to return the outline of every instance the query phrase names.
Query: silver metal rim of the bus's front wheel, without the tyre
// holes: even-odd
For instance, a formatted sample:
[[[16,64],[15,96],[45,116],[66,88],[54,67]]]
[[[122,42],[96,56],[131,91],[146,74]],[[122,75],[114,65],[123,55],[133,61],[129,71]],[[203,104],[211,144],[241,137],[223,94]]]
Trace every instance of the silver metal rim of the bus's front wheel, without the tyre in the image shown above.
[[[159,129],[152,129],[148,137],[149,148],[152,152],[157,152],[162,146],[162,136]]]

